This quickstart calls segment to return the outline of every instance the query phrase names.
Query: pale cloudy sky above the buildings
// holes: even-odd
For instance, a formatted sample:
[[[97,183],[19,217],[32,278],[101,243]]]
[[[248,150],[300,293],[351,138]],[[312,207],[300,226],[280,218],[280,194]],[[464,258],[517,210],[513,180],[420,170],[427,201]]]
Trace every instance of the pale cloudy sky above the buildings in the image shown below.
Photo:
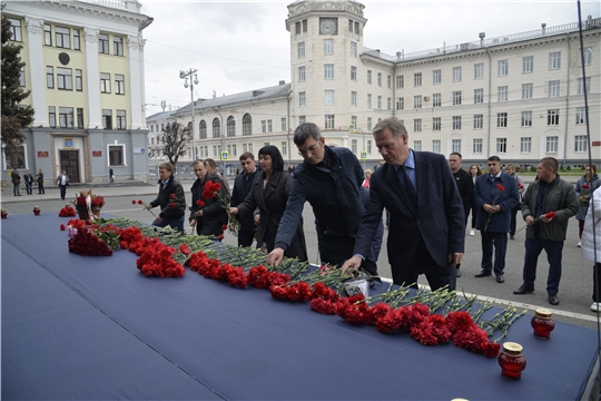
[[[197,69],[194,98],[210,98],[290,81],[287,6],[292,1],[139,0],[154,22],[144,30],[146,115],[190,102],[180,70]],[[394,56],[578,21],[577,1],[361,1],[363,45]],[[582,0],[582,19],[601,2]]]

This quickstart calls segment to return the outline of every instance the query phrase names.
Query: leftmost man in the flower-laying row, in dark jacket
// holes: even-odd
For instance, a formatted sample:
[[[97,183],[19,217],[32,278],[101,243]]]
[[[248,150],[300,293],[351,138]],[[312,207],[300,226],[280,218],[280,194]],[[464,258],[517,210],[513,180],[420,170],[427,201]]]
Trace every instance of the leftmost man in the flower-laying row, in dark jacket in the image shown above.
[[[186,214],[186,197],[181,184],[174,177],[174,165],[165,162],[159,165],[159,193],[150,202],[148,209],[160,206],[160,213],[152,222],[154,226],[170,226],[184,231],[184,215]]]

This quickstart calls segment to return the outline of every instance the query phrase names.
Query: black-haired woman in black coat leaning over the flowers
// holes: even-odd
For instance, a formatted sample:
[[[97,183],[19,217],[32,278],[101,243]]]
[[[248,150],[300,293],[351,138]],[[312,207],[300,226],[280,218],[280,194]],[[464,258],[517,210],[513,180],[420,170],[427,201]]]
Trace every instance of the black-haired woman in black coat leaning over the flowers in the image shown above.
[[[274,250],[277,227],[286,209],[286,203],[290,193],[292,176],[284,172],[282,154],[273,145],[260,148],[258,160],[262,172],[257,174],[248,196],[238,207],[230,207],[229,213],[233,215],[244,215],[253,213],[258,208],[260,219],[257,229],[257,247],[260,247],[263,252],[269,253]],[[296,234],[284,255],[287,257],[297,257],[303,262],[307,260],[303,219],[298,223]]]

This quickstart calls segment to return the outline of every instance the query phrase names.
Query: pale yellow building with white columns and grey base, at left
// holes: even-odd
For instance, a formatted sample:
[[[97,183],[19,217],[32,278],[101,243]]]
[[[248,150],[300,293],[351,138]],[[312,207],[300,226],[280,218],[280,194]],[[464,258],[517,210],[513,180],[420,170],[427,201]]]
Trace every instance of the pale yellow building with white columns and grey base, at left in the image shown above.
[[[71,183],[148,180],[142,30],[152,19],[136,0],[7,1],[22,46],[21,84],[35,121],[2,168],[60,170]],[[2,175],[2,184],[8,183]],[[10,184],[9,184],[10,185]]]

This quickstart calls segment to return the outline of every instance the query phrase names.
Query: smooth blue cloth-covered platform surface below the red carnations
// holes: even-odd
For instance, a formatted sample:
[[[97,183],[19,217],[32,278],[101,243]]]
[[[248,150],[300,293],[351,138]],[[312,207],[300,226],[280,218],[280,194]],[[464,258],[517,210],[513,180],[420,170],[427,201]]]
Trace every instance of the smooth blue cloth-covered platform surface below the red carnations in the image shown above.
[[[149,278],[127,251],[73,255],[49,213],[2,219],[2,399],[574,400],[587,394],[597,333],[530,317],[519,381],[496,359],[352,326],[268,291],[186,272]],[[590,391],[590,390],[589,390]]]

